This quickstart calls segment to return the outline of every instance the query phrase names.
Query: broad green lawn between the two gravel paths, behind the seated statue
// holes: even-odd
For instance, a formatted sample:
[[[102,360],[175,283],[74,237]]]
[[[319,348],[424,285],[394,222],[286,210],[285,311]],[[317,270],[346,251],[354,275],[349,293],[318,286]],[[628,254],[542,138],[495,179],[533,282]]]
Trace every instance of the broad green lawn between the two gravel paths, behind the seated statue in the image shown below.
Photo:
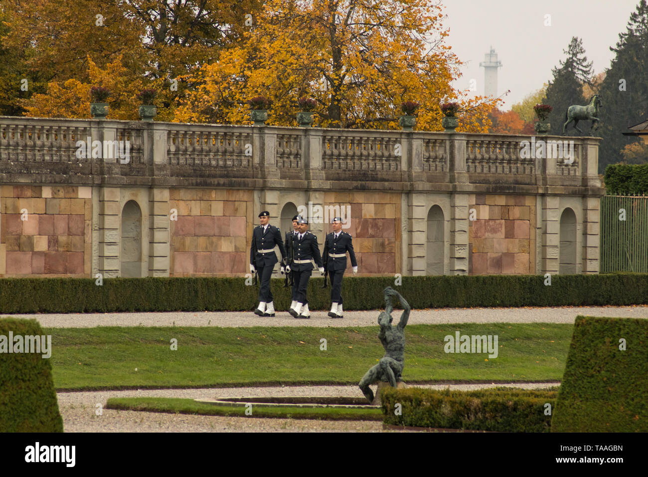
[[[455,331],[498,335],[498,357],[446,354]],[[410,383],[561,380],[572,324],[418,324],[406,328]],[[362,328],[45,328],[57,389],[357,384],[384,350]],[[171,339],[178,350],[170,349]],[[321,339],[327,350],[320,350]]]

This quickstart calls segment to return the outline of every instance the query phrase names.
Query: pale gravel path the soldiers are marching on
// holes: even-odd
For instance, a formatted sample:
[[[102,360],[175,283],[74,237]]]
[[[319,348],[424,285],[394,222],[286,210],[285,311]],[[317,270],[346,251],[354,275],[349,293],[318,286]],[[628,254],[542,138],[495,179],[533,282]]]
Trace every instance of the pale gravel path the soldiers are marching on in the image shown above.
[[[168,313],[52,313],[3,315],[35,318],[47,328],[93,326],[374,326],[379,310],[344,312],[343,319],[330,319],[327,312],[312,312],[311,319],[294,319],[287,312],[262,318],[252,312]],[[648,318],[648,305],[555,306],[525,308],[439,308],[412,310],[410,324],[440,323],[573,323],[577,315]],[[395,319],[400,312],[395,312]]]

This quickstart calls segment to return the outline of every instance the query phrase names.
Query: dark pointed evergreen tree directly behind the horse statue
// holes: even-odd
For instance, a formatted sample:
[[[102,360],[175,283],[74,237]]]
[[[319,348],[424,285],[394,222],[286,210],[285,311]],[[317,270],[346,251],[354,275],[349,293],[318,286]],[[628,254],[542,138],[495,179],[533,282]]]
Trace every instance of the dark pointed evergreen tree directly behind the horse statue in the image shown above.
[[[580,38],[573,36],[568,49],[563,52],[567,58],[560,62],[560,67],[551,70],[553,81],[549,82],[542,100],[542,103],[553,106],[548,120],[551,123],[550,134],[557,136],[562,135],[562,126],[566,121],[565,114],[569,106],[587,103],[587,99],[583,97],[583,84],[589,84],[592,77],[592,62],[587,62]],[[583,129],[583,133],[572,129],[573,123],[569,127],[570,136],[588,135],[588,130],[581,126],[579,127]]]

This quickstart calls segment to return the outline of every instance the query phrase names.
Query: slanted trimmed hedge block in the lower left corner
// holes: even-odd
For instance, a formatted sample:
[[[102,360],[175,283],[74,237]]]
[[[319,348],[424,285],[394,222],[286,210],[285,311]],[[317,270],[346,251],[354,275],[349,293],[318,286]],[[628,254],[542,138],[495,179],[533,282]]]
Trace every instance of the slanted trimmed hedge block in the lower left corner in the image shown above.
[[[43,335],[34,319],[0,319],[0,335],[8,340],[9,331]],[[52,367],[41,353],[0,354],[0,432],[63,432]]]

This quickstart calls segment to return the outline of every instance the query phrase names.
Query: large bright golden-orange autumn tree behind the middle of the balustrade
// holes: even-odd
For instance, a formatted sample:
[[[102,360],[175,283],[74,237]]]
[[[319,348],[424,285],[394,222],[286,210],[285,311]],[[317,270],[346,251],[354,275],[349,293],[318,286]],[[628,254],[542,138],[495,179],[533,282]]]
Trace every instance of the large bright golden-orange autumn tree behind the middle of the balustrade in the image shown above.
[[[439,130],[440,104],[458,100],[459,128],[485,131],[492,104],[450,86],[461,63],[442,19],[424,0],[270,0],[238,45],[184,78],[192,91],[176,120],[249,123],[245,100],[267,95],[268,122],[294,125],[310,96],[322,127],[396,128],[400,104],[416,100],[417,128]]]

